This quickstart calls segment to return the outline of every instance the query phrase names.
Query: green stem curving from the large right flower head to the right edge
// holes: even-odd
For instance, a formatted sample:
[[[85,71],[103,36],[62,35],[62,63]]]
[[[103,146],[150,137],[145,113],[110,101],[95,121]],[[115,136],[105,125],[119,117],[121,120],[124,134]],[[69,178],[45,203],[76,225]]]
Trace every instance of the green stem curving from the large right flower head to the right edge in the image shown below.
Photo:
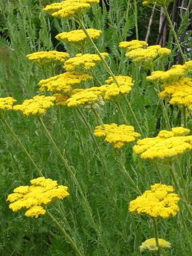
[[[176,178],[176,170],[175,170],[175,166],[174,164],[171,164],[170,165],[170,172],[172,174],[172,179],[173,179],[173,183],[174,183],[174,187],[175,187],[175,190],[176,190],[176,193],[179,195],[181,201],[183,202],[183,204],[185,205],[185,208],[191,218],[191,221],[192,221],[192,208],[191,206],[188,204],[187,202],[187,199],[186,197],[183,195],[183,191],[182,189],[180,188],[178,182],[177,182],[177,178]]]

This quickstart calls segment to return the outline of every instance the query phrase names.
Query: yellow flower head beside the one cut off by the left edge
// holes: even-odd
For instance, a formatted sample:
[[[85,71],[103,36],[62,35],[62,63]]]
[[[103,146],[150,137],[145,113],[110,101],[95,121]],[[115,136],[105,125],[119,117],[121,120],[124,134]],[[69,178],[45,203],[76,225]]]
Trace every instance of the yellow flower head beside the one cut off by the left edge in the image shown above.
[[[54,105],[55,97],[37,95],[32,99],[26,99],[22,104],[15,105],[13,110],[22,112],[25,116],[44,115],[48,108]]]

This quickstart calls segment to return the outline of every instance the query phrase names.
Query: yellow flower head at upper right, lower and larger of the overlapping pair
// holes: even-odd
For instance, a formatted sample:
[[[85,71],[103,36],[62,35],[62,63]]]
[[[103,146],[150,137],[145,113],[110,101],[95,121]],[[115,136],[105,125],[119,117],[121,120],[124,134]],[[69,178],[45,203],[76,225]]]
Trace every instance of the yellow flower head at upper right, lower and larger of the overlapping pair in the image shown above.
[[[159,45],[148,46],[147,48],[138,48],[125,53],[127,58],[132,61],[140,63],[140,65],[147,66],[147,62],[153,62],[157,58],[164,58],[170,54],[167,48],[161,48]]]

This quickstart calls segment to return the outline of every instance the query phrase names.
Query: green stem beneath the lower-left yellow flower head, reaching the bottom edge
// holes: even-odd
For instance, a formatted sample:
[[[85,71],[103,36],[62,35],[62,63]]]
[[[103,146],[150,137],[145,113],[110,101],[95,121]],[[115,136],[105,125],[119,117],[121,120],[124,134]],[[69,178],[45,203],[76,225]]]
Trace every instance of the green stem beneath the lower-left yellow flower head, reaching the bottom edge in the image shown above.
[[[46,215],[54,222],[54,224],[57,226],[57,228],[61,231],[61,233],[64,235],[66,240],[70,243],[70,245],[73,247],[74,251],[77,255],[83,256],[84,253],[80,252],[80,250],[77,248],[77,245],[75,244],[74,240],[69,236],[69,234],[66,232],[66,230],[60,225],[60,223],[50,214],[50,212],[47,210]]]

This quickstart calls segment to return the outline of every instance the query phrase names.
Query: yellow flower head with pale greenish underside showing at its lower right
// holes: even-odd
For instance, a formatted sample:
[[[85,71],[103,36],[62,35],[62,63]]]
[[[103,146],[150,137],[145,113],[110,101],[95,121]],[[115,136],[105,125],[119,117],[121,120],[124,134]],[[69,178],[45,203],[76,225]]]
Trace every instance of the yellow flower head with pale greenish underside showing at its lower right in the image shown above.
[[[102,90],[99,87],[83,89],[75,94],[72,92],[72,96],[67,100],[67,106],[70,108],[98,109],[103,105]]]

